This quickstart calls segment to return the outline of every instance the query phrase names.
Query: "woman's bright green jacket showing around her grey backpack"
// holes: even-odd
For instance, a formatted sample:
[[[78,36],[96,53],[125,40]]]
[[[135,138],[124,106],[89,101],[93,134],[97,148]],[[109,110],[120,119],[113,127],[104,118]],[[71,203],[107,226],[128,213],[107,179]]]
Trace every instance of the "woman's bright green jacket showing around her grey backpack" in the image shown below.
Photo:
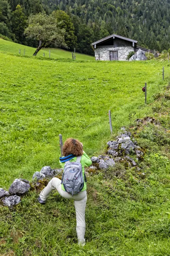
[[[70,162],[76,162],[76,160],[77,160],[77,157],[74,157],[70,160]],[[59,163],[62,166],[62,168],[64,168],[65,163],[61,163],[60,161],[59,161]],[[85,166],[91,166],[92,162],[91,162],[90,157],[88,157],[88,155],[84,151],[83,151],[83,155],[82,155],[80,163],[82,164],[82,175],[83,175],[84,180],[85,180]],[[61,185],[61,188],[62,188],[62,190],[65,191],[63,184]],[[84,191],[86,189],[87,189],[87,186],[86,186],[86,183],[84,181],[84,187],[82,188],[82,191]]]

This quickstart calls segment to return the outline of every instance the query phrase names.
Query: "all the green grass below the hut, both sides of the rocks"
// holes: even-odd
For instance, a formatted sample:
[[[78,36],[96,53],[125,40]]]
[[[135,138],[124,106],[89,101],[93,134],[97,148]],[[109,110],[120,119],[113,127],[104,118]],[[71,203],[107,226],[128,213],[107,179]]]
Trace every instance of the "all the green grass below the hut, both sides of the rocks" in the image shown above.
[[[79,139],[89,156],[105,151],[109,109],[113,135],[130,126],[145,156],[140,172],[116,164],[88,177],[85,247],[77,245],[74,205],[57,192],[44,206],[34,188],[14,209],[0,204],[0,256],[170,256],[168,62],[67,62],[3,52],[0,187],[31,180],[42,166],[59,167],[60,133]],[[134,119],[144,116],[160,125],[136,127]]]

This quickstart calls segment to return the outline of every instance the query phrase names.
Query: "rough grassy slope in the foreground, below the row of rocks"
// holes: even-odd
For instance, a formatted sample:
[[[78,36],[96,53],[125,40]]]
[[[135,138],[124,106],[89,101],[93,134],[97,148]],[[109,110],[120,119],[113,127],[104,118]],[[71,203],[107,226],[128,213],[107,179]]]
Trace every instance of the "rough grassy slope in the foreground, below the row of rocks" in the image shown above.
[[[85,247],[76,244],[73,203],[54,191],[42,206],[31,191],[14,210],[0,207],[0,255],[169,256],[170,101],[161,96],[150,113],[163,126],[130,128],[145,176],[117,165],[88,177]]]

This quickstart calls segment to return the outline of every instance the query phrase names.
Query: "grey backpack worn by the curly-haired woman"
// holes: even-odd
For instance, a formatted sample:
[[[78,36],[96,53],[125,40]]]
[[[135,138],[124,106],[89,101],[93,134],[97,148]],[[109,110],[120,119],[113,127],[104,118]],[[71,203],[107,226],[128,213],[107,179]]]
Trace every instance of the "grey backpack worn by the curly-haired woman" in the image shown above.
[[[76,162],[65,162],[64,172],[62,174],[61,183],[65,191],[72,194],[72,196],[78,194],[84,186],[80,160],[81,156],[77,157]]]

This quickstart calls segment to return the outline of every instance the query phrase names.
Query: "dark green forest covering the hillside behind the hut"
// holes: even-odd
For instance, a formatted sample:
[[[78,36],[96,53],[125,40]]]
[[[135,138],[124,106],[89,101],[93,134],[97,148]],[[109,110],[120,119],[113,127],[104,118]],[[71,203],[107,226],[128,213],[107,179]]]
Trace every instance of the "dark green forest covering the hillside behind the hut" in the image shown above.
[[[170,0],[0,0],[0,36],[37,47],[24,34],[28,17],[54,13],[65,29],[61,48],[94,55],[91,43],[115,33],[161,52],[170,48],[169,10]]]

